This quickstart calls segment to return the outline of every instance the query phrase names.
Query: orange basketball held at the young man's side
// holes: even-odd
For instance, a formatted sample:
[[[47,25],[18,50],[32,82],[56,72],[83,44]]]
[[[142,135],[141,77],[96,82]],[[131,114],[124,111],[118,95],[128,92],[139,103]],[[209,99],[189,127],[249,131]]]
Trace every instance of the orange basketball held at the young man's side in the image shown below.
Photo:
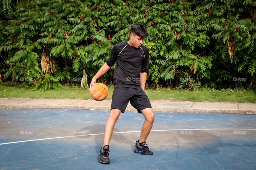
[[[90,95],[94,100],[101,101],[107,98],[109,90],[103,83],[95,83],[91,86]]]

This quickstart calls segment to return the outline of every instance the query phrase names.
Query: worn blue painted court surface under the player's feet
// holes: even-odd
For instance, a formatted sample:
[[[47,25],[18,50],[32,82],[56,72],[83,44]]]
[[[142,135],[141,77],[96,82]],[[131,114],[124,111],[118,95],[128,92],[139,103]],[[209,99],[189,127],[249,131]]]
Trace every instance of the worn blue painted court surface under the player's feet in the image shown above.
[[[125,112],[100,164],[109,111],[0,109],[0,170],[4,169],[256,169],[256,115],[160,113],[146,143],[133,152],[144,122]]]

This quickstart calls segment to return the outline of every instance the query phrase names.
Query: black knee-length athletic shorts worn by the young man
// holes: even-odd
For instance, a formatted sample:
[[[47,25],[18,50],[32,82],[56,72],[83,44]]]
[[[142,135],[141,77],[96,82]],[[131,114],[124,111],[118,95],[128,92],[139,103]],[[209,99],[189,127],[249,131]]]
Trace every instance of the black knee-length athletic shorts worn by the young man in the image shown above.
[[[152,108],[142,88],[114,87],[111,109],[119,109],[124,113],[129,101],[139,113],[141,113],[139,109]]]

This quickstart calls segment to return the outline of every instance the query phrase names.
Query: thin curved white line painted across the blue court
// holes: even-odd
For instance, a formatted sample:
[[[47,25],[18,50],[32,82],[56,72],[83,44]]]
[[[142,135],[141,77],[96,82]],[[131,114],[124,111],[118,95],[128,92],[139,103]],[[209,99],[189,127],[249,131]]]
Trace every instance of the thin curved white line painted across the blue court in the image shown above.
[[[178,131],[178,130],[256,130],[256,129],[164,129],[164,130],[151,130],[151,132],[156,131]],[[126,132],[114,132],[116,133],[133,133],[133,132],[141,132],[140,131],[126,131]],[[55,138],[43,138],[43,139],[34,139],[34,140],[27,140],[27,141],[17,141],[17,142],[8,142],[8,143],[0,143],[0,145],[6,145],[11,143],[21,143],[21,142],[30,142],[30,141],[42,141],[42,140],[48,140],[48,139],[59,139],[59,138],[71,138],[71,137],[78,137],[78,136],[92,136],[92,135],[103,135],[104,133],[96,133],[96,134],[88,134],[88,135],[73,135],[73,136],[62,136],[62,137],[55,137]]]

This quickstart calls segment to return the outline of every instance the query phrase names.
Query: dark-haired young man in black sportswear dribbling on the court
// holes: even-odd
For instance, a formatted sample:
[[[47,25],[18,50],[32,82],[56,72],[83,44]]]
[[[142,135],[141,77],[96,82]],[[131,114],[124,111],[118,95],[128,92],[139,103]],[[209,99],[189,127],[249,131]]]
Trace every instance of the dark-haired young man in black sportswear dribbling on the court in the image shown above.
[[[96,83],[97,78],[106,73],[116,63],[114,70],[115,87],[112,95],[111,111],[106,121],[104,141],[99,154],[99,162],[101,163],[109,163],[109,141],[114,130],[114,125],[120,113],[125,112],[129,101],[145,117],[141,136],[135,142],[134,152],[153,155],[153,152],[145,142],[154,122],[154,112],[149,98],[144,92],[149,49],[142,45],[142,41],[147,36],[147,29],[143,24],[136,23],[131,26],[130,32],[130,40],[113,46],[110,58],[104,63],[98,73],[95,74],[90,83],[91,88]]]

